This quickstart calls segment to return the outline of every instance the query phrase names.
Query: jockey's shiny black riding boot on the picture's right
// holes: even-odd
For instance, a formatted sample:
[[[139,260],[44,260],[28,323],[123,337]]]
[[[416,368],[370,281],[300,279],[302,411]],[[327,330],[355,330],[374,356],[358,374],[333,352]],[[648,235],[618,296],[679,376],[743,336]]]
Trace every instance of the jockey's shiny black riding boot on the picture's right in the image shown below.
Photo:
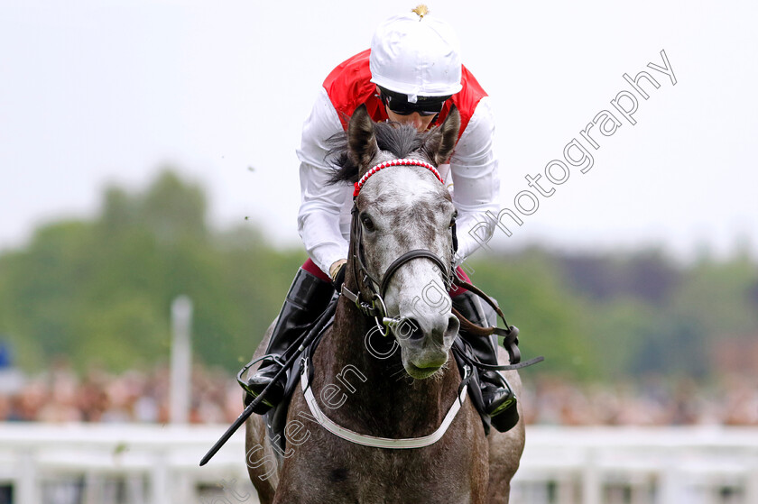
[[[480,327],[495,325],[495,320],[487,320],[483,303],[471,291],[466,291],[452,298],[453,307],[469,321]],[[490,308],[491,309],[491,308]],[[495,311],[493,314],[495,314]],[[462,332],[461,337],[470,345],[476,360],[485,364],[497,365],[497,336],[475,336]],[[516,397],[513,390],[498,371],[479,371],[479,383],[482,399],[485,403],[485,413],[490,416],[492,426],[498,431],[505,432],[513,428],[519,421],[516,408]]]

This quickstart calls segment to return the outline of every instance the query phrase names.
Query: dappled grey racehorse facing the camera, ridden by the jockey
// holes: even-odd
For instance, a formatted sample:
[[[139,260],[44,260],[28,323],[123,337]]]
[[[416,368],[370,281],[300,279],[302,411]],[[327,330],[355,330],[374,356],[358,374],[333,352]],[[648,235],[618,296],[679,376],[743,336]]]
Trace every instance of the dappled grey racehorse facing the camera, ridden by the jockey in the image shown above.
[[[459,124],[453,110],[438,128],[418,133],[412,127],[374,124],[359,107],[347,134],[336,141],[337,151],[342,150],[337,179],[355,182],[383,161],[421,161],[421,166],[401,163],[374,170],[360,188],[345,288],[371,298],[368,278],[383,279],[404,252],[425,250],[441,260],[416,257],[393,270],[385,282],[383,315],[396,323],[389,325],[386,336],[378,319],[340,297],[334,322],[313,353],[310,400],[319,403],[330,423],[364,437],[429,436],[461,397],[462,377],[451,353],[458,318],[449,303],[440,307],[424,302],[430,286],[445,287],[439,262],[452,260],[450,225],[456,209],[434,171],[423,168],[448,159]],[[365,270],[358,274],[359,268]],[[269,334],[271,328],[254,358],[263,355]],[[499,360],[508,363],[502,348]],[[505,371],[504,376],[519,395],[518,373]],[[306,398],[302,389],[295,389],[284,451],[271,444],[263,417],[254,415],[246,422],[245,462],[263,504],[508,502],[524,445],[521,420],[506,433],[492,429],[485,435],[466,397],[439,441],[393,449],[335,435]]]

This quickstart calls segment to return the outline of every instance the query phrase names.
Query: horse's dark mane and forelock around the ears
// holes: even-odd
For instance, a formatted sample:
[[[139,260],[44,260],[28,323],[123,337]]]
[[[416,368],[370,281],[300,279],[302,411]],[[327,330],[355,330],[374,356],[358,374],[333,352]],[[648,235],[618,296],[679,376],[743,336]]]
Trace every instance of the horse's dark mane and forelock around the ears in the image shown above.
[[[424,146],[430,132],[418,133],[410,124],[376,123],[374,135],[380,151],[390,151],[396,158],[406,158],[413,151]],[[329,150],[326,159],[335,167],[329,184],[358,181],[356,162],[348,155],[347,132],[340,132],[327,139]]]

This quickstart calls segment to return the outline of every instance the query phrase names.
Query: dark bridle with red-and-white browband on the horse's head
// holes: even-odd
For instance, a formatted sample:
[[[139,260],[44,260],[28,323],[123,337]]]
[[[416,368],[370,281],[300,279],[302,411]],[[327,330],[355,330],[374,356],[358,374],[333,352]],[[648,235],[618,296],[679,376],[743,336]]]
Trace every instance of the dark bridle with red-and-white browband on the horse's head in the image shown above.
[[[437,169],[434,168],[434,166],[432,166],[430,163],[422,160],[405,158],[388,160],[384,161],[383,163],[377,164],[370,170],[367,170],[364,176],[355,183],[355,189],[353,191],[353,209],[350,212],[352,215],[352,221],[350,224],[350,246],[353,251],[353,255],[350,260],[352,261],[353,272],[358,283],[358,291],[352,292],[350,289],[347,289],[343,283],[341,293],[343,296],[354,302],[356,304],[356,307],[362,313],[364,313],[365,316],[374,317],[376,326],[379,329],[380,334],[383,336],[389,334],[391,326],[400,323],[400,320],[397,318],[387,316],[387,307],[384,304],[384,297],[386,296],[387,288],[389,287],[390,280],[393,278],[393,274],[406,262],[412,261],[414,259],[429,259],[430,261],[434,262],[434,264],[439,268],[439,271],[442,273],[445,286],[446,288],[449,288],[455,276],[455,265],[453,261],[458,249],[455,220],[453,220],[453,223],[450,226],[452,233],[450,260],[447,264],[434,252],[431,252],[427,249],[414,249],[409,252],[403,253],[400,257],[390,263],[387,269],[384,270],[384,275],[382,275],[381,281],[374,279],[368,270],[366,270],[365,249],[363,243],[363,225],[361,225],[359,218],[360,210],[357,206],[357,197],[366,180],[368,180],[379,170],[384,170],[385,168],[392,166],[419,166],[421,168],[430,170],[435,175],[435,177],[437,177],[439,182],[444,183],[442,177],[439,176]]]

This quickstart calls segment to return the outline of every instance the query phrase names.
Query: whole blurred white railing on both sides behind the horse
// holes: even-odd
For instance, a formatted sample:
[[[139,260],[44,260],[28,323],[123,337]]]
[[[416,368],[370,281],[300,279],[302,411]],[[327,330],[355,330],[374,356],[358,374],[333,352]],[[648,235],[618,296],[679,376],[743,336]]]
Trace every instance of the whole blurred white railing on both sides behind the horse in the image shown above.
[[[254,504],[238,432],[226,426],[0,423],[0,501],[14,504]],[[13,490],[10,490],[13,489]],[[527,429],[512,502],[755,504],[758,429]]]

